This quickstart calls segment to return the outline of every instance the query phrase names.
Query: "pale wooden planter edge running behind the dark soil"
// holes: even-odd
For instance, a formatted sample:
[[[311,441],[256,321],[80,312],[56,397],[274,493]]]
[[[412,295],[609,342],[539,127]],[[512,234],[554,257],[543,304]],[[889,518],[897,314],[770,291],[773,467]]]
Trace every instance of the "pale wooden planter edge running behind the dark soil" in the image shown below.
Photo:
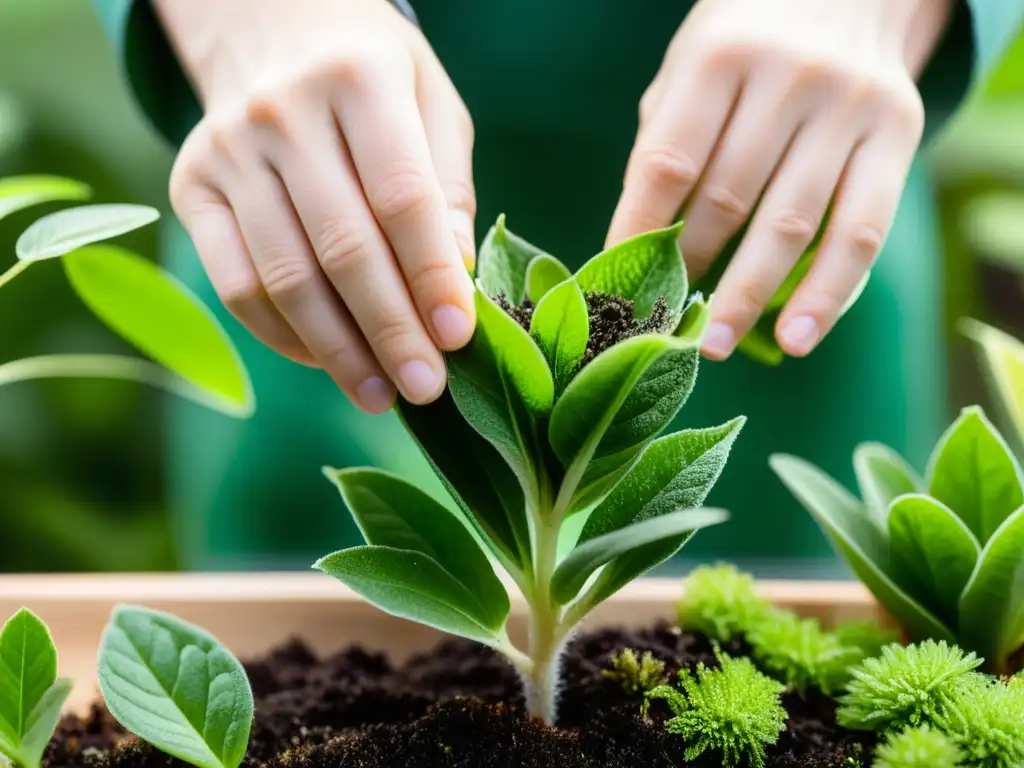
[[[684,582],[678,579],[634,582],[601,604],[584,626],[639,627],[671,618],[683,589]],[[765,581],[759,590],[779,607],[825,625],[863,618],[888,623],[859,583]],[[378,610],[319,573],[0,575],[0,621],[28,607],[47,623],[57,646],[60,675],[75,681],[69,702],[75,711],[85,710],[95,699],[99,637],[111,609],[119,603],[174,613],[208,630],[242,658],[298,636],[319,653],[357,644],[400,660],[442,636]],[[515,595],[509,628],[518,642],[524,616],[525,605]]]

